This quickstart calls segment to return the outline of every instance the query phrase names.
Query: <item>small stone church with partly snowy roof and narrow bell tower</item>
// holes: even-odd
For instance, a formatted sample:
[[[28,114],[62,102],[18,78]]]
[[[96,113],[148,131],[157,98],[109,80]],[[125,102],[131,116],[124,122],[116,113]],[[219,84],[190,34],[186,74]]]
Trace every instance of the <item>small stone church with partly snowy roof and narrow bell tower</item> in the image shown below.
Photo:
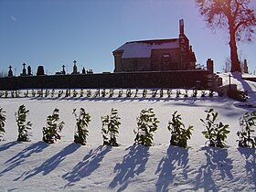
[[[196,69],[196,55],[179,20],[179,37],[126,42],[112,52],[114,72]]]

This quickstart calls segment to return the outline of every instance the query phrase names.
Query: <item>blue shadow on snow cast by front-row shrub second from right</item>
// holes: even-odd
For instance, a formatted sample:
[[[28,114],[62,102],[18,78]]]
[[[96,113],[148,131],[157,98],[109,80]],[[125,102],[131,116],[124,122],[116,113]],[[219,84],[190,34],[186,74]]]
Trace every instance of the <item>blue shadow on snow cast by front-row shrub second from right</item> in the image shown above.
[[[222,179],[226,176],[232,179],[231,169],[233,168],[233,162],[228,158],[227,149],[210,146],[203,147],[202,149],[206,150],[205,155],[207,156],[207,164],[201,165],[198,168],[194,190],[204,187],[205,191],[218,191],[219,188],[216,186],[212,177],[213,171],[216,169],[219,170]]]

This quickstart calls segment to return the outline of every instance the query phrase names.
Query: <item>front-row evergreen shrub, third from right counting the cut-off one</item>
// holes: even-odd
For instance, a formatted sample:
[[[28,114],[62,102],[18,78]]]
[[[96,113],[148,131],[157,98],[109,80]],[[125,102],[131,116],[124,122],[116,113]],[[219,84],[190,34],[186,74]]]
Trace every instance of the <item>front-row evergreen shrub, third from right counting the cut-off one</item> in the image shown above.
[[[177,111],[172,114],[172,121],[168,123],[168,130],[171,132],[171,145],[186,147],[187,140],[191,137],[191,131],[193,126],[185,128],[185,124],[182,123],[181,114],[177,114]]]

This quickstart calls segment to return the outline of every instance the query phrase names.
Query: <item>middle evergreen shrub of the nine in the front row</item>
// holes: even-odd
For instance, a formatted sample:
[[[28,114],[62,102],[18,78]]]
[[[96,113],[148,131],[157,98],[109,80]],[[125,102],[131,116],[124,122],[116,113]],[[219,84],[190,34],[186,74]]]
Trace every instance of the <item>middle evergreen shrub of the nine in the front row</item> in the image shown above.
[[[101,123],[102,123],[102,137],[103,137],[103,144],[111,145],[111,146],[118,146],[117,144],[117,134],[119,133],[119,126],[120,117],[118,116],[118,112],[115,109],[112,109],[110,115],[102,116]]]

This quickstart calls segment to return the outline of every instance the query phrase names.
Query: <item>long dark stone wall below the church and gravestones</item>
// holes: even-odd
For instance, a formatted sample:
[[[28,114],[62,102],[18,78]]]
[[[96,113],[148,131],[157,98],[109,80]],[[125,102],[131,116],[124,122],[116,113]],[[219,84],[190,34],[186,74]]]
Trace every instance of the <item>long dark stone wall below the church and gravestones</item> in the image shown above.
[[[0,90],[93,88],[211,89],[213,75],[206,70],[101,73],[0,78]]]

